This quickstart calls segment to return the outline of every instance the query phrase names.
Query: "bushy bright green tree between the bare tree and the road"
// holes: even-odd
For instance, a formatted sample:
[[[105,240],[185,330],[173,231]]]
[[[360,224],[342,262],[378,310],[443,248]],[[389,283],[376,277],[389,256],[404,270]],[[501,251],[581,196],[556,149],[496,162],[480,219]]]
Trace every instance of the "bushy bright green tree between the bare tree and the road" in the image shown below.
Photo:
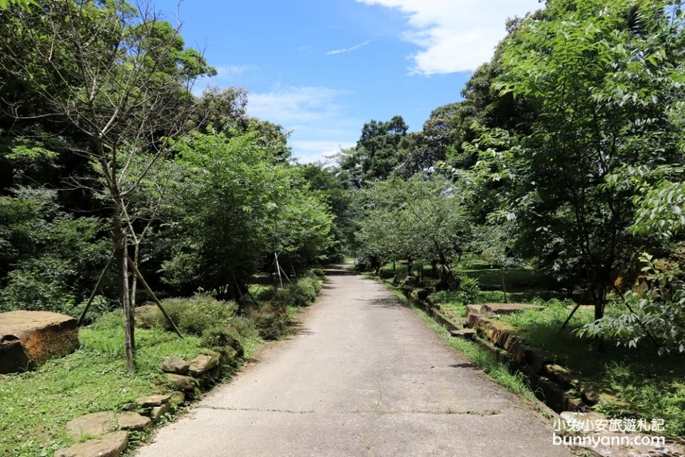
[[[176,220],[165,232],[173,256],[162,270],[177,291],[202,287],[238,299],[235,281],[245,283],[264,253],[307,265],[332,246],[328,208],[260,138],[248,131],[176,142],[188,186],[168,209]]]

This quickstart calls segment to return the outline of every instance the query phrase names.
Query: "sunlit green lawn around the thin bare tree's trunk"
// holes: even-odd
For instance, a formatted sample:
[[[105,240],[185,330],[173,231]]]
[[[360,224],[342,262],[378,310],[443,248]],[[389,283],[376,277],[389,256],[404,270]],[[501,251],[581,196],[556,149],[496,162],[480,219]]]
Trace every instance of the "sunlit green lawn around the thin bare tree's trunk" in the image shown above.
[[[205,352],[200,338],[159,329],[136,331],[136,373],[126,370],[123,328],[85,328],[81,348],[37,371],[0,381],[0,456],[52,456],[73,440],[68,421],[86,413],[117,411],[140,396],[169,388],[159,366],[167,356],[186,360]]]

